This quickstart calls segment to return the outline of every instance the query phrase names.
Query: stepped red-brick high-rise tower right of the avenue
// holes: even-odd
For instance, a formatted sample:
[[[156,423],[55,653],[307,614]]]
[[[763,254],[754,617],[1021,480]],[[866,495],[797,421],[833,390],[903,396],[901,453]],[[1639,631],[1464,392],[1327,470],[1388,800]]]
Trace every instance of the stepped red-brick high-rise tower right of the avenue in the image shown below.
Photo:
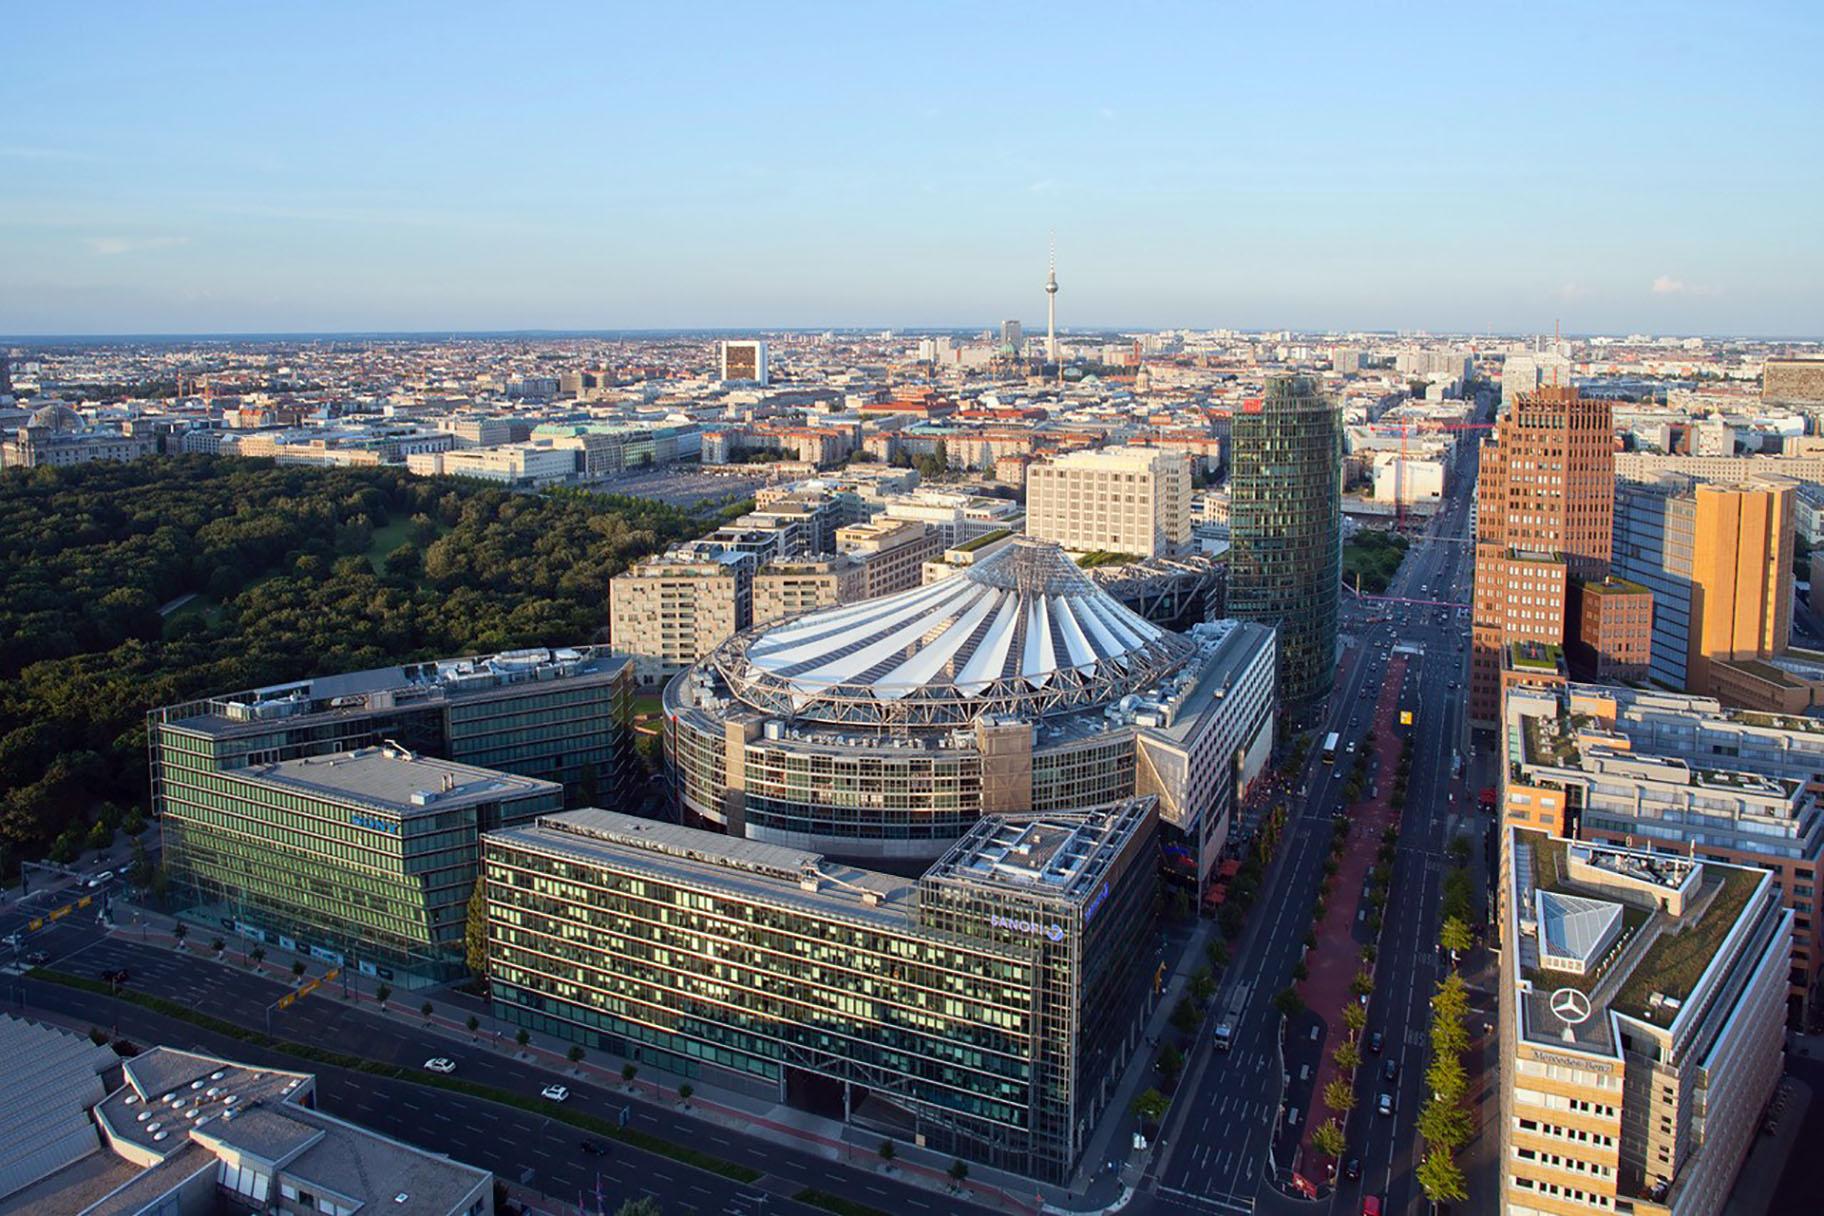
[[[1521,394],[1481,448],[1472,726],[1499,722],[1516,653],[1560,665],[1578,583],[1609,572],[1612,518],[1609,403],[1576,388]]]

